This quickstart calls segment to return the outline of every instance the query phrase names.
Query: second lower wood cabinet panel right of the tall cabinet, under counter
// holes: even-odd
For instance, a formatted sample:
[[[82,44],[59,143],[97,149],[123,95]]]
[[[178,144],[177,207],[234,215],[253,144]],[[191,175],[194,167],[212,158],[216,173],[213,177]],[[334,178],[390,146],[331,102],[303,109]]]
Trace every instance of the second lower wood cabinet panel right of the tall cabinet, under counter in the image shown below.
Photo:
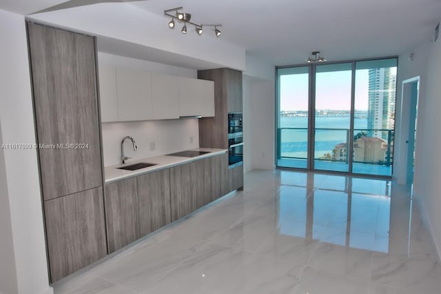
[[[170,170],[136,177],[141,237],[172,222]]]

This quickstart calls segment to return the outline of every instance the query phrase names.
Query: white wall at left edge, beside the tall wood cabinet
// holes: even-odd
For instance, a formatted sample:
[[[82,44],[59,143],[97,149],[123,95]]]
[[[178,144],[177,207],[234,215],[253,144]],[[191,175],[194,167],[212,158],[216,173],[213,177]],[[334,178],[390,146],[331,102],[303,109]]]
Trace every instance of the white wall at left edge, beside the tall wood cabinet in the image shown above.
[[[0,36],[2,141],[3,144],[34,144],[34,115],[24,17],[0,10]],[[2,185],[1,202],[9,202],[12,232],[10,241],[14,250],[8,252],[11,255],[8,262],[0,263],[0,273],[9,271],[12,276],[11,280],[6,281],[7,284],[2,281],[0,292],[52,293],[48,282],[37,151],[4,149],[3,153],[6,186]],[[0,182],[4,182],[4,177],[0,176]],[[3,225],[6,227],[2,226],[1,229],[8,231],[8,225]],[[10,251],[10,247],[2,247],[1,250]],[[12,260],[15,268],[10,268]]]

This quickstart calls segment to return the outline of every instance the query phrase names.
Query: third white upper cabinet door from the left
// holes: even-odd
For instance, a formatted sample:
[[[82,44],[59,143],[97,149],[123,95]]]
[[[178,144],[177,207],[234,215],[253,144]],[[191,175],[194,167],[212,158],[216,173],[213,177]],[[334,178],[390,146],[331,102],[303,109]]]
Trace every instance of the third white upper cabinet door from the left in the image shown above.
[[[178,78],[152,74],[153,119],[178,119]]]

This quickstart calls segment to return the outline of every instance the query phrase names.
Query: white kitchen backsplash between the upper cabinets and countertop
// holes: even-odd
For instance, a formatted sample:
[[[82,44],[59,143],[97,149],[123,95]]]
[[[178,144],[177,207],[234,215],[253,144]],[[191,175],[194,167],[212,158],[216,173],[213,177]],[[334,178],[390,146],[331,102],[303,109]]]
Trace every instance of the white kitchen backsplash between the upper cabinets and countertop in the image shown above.
[[[133,150],[125,141],[124,152],[132,157],[127,162],[199,147],[198,119],[161,121],[125,121],[102,124],[104,166],[121,164],[121,140],[130,136],[136,141]]]

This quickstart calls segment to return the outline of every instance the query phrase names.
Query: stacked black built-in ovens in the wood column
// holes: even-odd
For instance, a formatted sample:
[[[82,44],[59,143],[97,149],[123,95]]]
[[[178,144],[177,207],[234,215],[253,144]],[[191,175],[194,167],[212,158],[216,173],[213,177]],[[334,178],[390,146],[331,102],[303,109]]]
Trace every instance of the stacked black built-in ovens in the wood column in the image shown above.
[[[242,113],[228,114],[228,165],[234,168],[243,164]]]

